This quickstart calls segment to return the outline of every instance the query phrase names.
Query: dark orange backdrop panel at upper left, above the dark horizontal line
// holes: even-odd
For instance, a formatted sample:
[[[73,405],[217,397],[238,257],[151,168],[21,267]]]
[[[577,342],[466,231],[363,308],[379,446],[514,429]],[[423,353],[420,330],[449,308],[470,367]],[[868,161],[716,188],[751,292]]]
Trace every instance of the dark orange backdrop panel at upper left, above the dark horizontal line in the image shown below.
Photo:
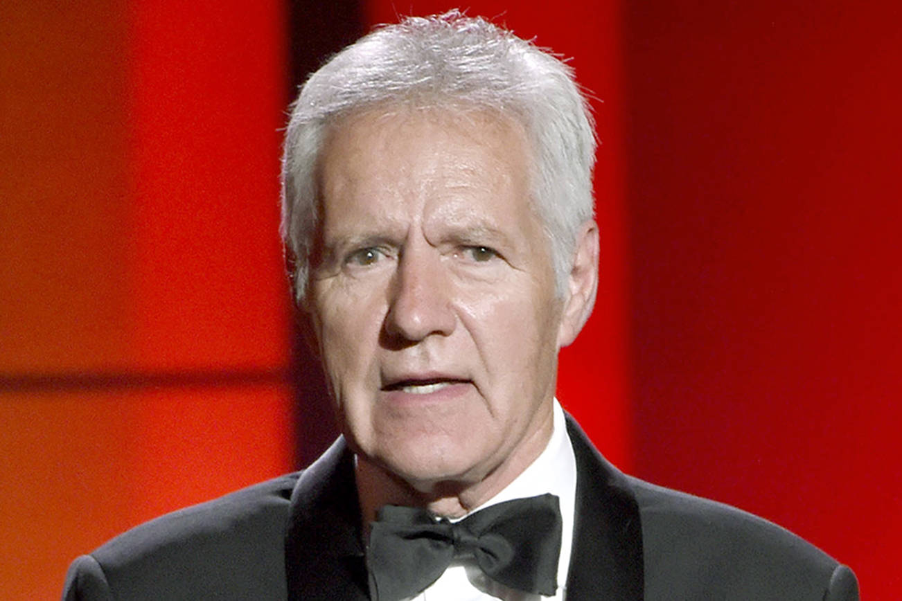
[[[0,374],[124,362],[123,19],[115,1],[0,3]]]

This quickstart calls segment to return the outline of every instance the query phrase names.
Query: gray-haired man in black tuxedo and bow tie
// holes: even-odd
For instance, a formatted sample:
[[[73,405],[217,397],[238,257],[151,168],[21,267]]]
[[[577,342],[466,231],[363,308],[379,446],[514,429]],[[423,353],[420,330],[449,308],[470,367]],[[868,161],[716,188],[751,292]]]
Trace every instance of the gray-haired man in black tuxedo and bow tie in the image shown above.
[[[483,20],[408,19],[320,68],[283,230],[344,435],[79,558],[64,596],[857,598],[778,526],[622,475],[557,404],[597,284],[593,162],[566,66]]]

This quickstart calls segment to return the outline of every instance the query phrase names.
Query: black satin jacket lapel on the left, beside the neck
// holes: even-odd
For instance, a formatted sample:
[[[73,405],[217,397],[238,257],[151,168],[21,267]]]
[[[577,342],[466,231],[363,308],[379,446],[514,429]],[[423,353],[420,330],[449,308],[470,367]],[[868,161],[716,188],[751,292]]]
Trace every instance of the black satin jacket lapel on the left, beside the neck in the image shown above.
[[[339,438],[300,475],[285,533],[289,599],[369,599],[354,457]]]

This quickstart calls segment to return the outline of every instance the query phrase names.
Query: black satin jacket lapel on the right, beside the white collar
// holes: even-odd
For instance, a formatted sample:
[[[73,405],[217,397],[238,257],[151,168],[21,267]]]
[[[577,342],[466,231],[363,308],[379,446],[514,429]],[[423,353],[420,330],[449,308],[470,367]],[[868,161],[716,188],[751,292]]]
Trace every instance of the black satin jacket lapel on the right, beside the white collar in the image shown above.
[[[570,416],[576,456],[576,514],[567,601],[641,601],[644,570],[639,505],[626,478]]]

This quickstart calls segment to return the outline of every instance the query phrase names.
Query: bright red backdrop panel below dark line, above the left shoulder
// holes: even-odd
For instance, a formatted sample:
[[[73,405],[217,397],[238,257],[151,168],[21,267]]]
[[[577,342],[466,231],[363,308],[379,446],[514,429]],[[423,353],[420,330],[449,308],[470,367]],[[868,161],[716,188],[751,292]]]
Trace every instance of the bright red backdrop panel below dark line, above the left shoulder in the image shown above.
[[[290,387],[159,387],[133,400],[126,526],[290,470]]]

